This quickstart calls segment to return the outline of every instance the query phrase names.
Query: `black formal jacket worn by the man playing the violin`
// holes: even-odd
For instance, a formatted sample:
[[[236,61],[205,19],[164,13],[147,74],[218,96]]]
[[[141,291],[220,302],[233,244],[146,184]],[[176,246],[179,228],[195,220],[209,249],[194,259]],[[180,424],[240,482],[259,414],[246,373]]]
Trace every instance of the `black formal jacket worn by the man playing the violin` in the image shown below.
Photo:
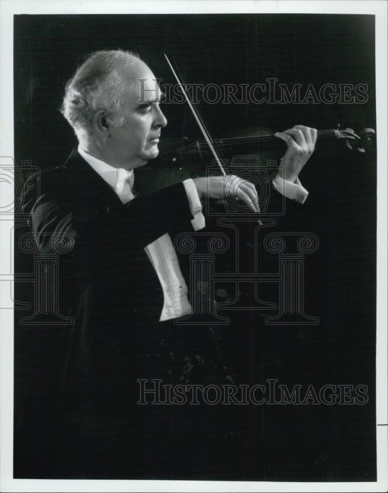
[[[137,380],[182,383],[190,344],[194,363],[196,353],[214,361],[207,328],[158,323],[163,292],[144,251],[167,232],[193,231],[184,186],[123,205],[76,150],[36,179],[39,197],[27,194],[24,210],[42,255],[56,251],[58,241],[69,243],[59,256],[59,309],[74,320],[62,380],[47,387],[52,396],[41,410],[49,476],[171,479],[174,433],[178,457],[187,453],[175,431],[184,429],[186,415],[172,427],[176,409],[137,405]],[[271,207],[282,201],[273,193]],[[207,375],[214,367],[222,365]]]

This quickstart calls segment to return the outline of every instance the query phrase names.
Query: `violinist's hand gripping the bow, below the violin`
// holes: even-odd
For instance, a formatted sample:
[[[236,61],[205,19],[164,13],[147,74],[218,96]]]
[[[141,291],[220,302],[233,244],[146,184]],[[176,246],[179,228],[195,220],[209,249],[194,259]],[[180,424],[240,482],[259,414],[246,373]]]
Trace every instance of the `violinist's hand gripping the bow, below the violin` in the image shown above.
[[[227,197],[239,199],[252,212],[260,212],[256,188],[250,181],[236,175],[193,178],[200,200],[218,201]]]

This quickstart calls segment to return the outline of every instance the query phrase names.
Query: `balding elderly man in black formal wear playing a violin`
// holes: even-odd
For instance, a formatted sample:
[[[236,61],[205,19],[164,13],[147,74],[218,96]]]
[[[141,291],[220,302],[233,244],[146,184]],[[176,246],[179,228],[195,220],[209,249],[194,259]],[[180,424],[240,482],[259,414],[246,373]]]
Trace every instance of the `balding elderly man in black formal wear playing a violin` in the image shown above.
[[[136,404],[136,379],[174,378],[168,321],[191,310],[172,238],[205,227],[204,200],[233,194],[258,212],[254,185],[237,176],[136,193],[136,170],[157,157],[167,125],[155,80],[133,53],[89,57],[62,108],[78,148],[41,173],[40,197],[25,204],[42,253],[58,238],[71,246],[59,289],[74,322],[55,411],[46,415],[44,457],[56,457],[58,477],[172,477],[170,411]],[[296,126],[278,137],[288,145],[279,190],[303,202],[298,175],[316,131]]]

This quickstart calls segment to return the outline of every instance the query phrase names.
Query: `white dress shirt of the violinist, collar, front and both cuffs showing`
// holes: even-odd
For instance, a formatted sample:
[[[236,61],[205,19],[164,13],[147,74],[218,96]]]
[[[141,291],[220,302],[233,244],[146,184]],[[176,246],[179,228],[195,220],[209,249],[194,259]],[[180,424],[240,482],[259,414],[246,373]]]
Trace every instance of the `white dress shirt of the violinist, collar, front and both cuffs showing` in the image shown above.
[[[123,204],[135,198],[131,190],[135,179],[134,170],[127,171],[114,168],[104,161],[91,156],[81,146],[78,146],[78,153],[114,190]],[[198,231],[205,227],[205,218],[202,213],[202,205],[198,197],[197,188],[192,179],[184,180],[183,185],[186,190],[190,211],[194,217],[191,220],[191,224],[194,231]],[[272,181],[272,186],[285,197],[294,199],[302,204],[308,195],[308,191],[303,188],[298,178],[294,183],[291,183],[277,176]],[[164,234],[145,246],[144,251],[155,269],[163,289],[164,304],[160,321],[189,315],[191,313],[191,305],[187,298],[187,285],[183,279],[170,235],[168,233]]]

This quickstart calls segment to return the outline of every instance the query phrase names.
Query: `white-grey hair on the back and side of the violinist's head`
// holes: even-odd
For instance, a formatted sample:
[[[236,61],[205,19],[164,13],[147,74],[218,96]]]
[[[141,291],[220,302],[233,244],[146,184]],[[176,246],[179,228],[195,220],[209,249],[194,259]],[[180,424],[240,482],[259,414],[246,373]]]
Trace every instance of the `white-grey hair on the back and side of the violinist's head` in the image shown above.
[[[106,110],[106,121],[121,127],[125,84],[119,68],[140,60],[137,53],[123,50],[96,51],[77,69],[66,84],[61,113],[79,141],[93,139],[92,122],[96,111]]]

